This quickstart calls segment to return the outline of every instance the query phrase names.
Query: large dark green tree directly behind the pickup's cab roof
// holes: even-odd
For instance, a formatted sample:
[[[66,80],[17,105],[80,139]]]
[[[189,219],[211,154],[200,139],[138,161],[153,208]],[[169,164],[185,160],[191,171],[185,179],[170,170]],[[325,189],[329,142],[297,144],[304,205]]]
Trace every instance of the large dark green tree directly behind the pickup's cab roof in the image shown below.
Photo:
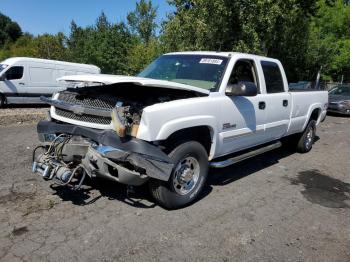
[[[292,80],[303,77],[316,0],[172,0],[163,24],[165,51],[241,51],[279,58]]]

